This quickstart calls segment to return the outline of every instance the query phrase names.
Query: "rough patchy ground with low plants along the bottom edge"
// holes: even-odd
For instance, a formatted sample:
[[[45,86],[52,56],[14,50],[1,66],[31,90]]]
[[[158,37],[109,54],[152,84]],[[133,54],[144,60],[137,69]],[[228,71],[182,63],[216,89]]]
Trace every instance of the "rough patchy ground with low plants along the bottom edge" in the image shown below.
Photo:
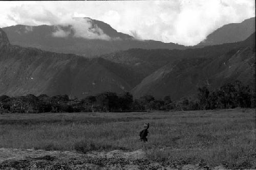
[[[0,148],[0,169],[226,169],[183,160],[148,160],[143,150],[124,152],[44,151]]]

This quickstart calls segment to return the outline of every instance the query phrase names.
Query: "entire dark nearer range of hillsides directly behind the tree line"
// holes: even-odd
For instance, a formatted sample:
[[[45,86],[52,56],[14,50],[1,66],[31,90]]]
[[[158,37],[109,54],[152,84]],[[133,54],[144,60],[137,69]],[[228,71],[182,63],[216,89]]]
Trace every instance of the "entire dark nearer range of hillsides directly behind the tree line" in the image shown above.
[[[68,94],[83,98],[104,91],[131,91],[179,99],[197,88],[251,81],[255,35],[245,41],[186,50],[134,48],[88,59],[11,45],[0,36],[0,94]]]

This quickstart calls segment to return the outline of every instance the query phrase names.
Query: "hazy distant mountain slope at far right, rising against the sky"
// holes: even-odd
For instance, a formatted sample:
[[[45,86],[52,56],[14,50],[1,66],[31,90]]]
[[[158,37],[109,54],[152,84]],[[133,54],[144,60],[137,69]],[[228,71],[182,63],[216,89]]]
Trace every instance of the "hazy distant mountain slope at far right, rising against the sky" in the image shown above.
[[[243,41],[255,32],[255,17],[241,23],[229,23],[209,34],[197,46]]]

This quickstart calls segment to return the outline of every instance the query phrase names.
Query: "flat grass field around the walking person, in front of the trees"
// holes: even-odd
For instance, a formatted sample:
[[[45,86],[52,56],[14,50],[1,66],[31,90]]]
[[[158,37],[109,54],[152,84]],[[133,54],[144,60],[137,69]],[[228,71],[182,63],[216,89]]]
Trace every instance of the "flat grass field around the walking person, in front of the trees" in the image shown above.
[[[144,145],[138,135],[147,122],[150,133]],[[255,109],[3,114],[0,148],[82,152],[143,148],[148,159],[251,168],[256,166]]]

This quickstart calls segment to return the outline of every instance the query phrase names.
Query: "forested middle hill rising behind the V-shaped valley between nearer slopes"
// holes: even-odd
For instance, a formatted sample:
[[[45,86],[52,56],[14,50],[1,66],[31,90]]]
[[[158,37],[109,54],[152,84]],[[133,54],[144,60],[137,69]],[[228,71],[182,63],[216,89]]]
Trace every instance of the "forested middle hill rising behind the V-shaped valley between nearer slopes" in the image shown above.
[[[125,51],[104,54],[99,57],[134,70],[139,76],[138,80],[142,81],[143,78],[149,76],[154,71],[170,62],[184,58],[218,57],[227,53],[235,45],[236,43],[226,43],[222,45],[206,46],[204,48],[188,48],[186,50],[145,50],[141,48],[132,48]]]

